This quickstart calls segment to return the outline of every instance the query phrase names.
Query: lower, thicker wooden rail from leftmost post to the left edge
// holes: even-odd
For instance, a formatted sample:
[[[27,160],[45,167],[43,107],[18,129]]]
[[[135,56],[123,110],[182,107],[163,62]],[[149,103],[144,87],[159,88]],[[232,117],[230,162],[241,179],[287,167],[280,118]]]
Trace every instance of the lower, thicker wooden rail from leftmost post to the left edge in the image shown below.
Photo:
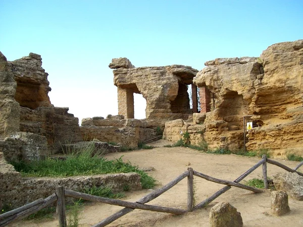
[[[24,208],[25,206],[23,206],[23,209],[20,209],[22,207],[19,207],[19,208],[17,208],[17,209],[19,209],[19,211],[17,213],[11,212],[11,213],[13,213],[12,215],[7,216],[6,218],[0,220],[0,227],[6,226],[13,221],[28,217],[29,215],[38,212],[39,210],[51,205],[52,203],[54,203],[56,201],[57,201],[57,196],[54,193],[53,195],[48,196],[47,198],[43,199],[42,203],[37,203],[32,206],[27,206],[27,205],[29,205],[29,204],[27,204],[27,205],[25,205],[26,208]],[[17,209],[15,209],[15,210],[17,210]],[[14,211],[14,210],[12,210],[12,211]]]

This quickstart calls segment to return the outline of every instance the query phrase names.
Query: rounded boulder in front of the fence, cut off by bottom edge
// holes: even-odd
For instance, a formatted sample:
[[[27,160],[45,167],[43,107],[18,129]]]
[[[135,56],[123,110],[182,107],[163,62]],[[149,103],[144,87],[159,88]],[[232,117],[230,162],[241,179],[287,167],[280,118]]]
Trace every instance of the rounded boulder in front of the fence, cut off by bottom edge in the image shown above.
[[[228,202],[220,202],[211,208],[211,227],[242,227],[243,221],[240,212]]]

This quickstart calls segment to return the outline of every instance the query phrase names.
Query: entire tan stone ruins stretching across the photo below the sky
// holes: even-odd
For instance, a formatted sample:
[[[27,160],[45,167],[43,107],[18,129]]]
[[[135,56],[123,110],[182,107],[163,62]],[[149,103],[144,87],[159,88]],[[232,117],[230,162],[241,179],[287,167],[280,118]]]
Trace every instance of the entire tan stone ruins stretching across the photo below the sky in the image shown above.
[[[86,118],[81,127],[68,107],[55,107],[49,100],[51,88],[41,60],[30,53],[9,62],[0,52],[4,187],[20,179],[7,161],[43,158],[62,152],[67,144],[77,147],[93,139],[96,147],[115,142],[133,148],[159,132],[174,142],[188,132],[191,144],[210,148],[265,148],[274,156],[303,155],[303,40],[271,45],[259,58],[208,61],[200,71],[182,65],[136,68],[126,58],[113,59],[109,67],[119,115]],[[146,100],[144,120],[134,119],[134,93]]]

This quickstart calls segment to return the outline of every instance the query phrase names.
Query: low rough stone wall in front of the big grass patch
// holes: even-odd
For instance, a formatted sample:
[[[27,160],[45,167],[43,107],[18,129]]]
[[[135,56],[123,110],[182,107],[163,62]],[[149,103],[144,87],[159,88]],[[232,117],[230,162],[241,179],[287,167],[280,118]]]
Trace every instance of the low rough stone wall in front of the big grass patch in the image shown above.
[[[140,175],[136,173],[69,178],[22,178],[0,152],[0,209],[5,205],[14,209],[39,198],[46,198],[55,193],[57,186],[74,191],[82,191],[93,186],[108,186],[112,187],[113,191],[123,191],[124,186],[128,186],[130,190],[140,190],[142,189],[140,180]]]

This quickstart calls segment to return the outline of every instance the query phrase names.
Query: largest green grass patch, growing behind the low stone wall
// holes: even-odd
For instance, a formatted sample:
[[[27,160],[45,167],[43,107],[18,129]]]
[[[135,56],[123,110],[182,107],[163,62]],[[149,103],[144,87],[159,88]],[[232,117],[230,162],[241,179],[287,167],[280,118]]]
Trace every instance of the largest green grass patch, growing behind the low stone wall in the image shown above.
[[[31,162],[11,162],[23,177],[72,177],[98,174],[137,173],[145,189],[153,188],[156,180],[140,171],[138,166],[123,162],[122,157],[107,160],[94,154],[94,149],[68,154],[65,160],[46,158]]]

